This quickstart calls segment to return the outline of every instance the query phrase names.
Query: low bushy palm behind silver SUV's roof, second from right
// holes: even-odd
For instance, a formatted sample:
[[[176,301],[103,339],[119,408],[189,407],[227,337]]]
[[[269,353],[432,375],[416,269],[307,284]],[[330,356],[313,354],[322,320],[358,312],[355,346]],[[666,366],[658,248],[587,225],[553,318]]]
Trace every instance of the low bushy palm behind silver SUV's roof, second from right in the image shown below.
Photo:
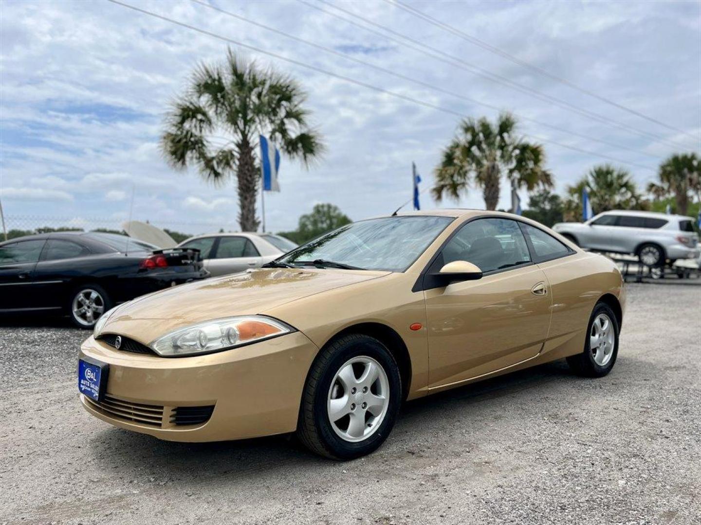
[[[627,169],[610,164],[592,167],[574,186],[567,188],[570,199],[566,202],[566,218],[582,215],[582,190],[587,188],[592,211],[600,214],[611,209],[644,209],[646,202],[638,193],[635,181]]]

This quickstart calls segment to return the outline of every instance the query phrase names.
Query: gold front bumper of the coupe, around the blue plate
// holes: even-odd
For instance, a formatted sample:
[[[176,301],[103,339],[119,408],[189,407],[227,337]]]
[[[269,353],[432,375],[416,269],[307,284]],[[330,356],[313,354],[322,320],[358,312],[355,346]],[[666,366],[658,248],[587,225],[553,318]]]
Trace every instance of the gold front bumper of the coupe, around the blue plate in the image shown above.
[[[118,351],[90,337],[81,345],[80,357],[109,365],[107,389],[104,400],[81,394],[81,402],[107,423],[169,441],[292,432],[317,352],[301,332],[184,358]]]

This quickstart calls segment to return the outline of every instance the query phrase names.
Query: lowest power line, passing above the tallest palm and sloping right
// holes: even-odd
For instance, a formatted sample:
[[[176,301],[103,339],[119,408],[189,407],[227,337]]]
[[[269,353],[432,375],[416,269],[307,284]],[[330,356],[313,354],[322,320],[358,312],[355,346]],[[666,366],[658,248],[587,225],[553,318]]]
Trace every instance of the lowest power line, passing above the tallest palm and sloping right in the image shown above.
[[[353,83],[353,84],[355,84],[355,85],[360,85],[360,86],[362,86],[362,87],[367,87],[367,89],[369,89],[369,90],[373,90],[373,91],[376,91],[376,92],[379,92],[379,93],[382,93],[382,94],[387,94],[387,95],[389,95],[390,97],[395,97],[395,98],[398,98],[398,99],[402,99],[402,100],[404,100],[404,101],[406,101],[406,102],[412,102],[412,103],[414,103],[414,104],[418,104],[418,105],[420,105],[420,106],[425,106],[425,107],[430,108],[430,109],[435,109],[435,110],[437,110],[437,111],[442,111],[443,113],[448,113],[448,114],[450,114],[450,115],[458,116],[458,117],[460,117],[460,118],[468,117],[468,115],[465,115],[464,113],[460,113],[460,112],[458,112],[458,111],[454,111],[454,110],[449,109],[449,108],[444,108],[444,107],[442,107],[442,106],[437,106],[437,105],[435,105],[435,104],[431,104],[430,102],[426,102],[426,101],[423,101],[423,100],[420,100],[420,99],[415,99],[414,97],[409,97],[408,95],[405,95],[405,94],[402,94],[402,93],[397,93],[397,92],[394,92],[394,91],[386,90],[386,89],[383,88],[383,87],[378,87],[378,86],[376,86],[376,85],[368,84],[368,83],[363,82],[362,80],[356,80],[355,78],[351,78],[351,77],[348,77],[348,76],[345,76],[345,75],[341,75],[341,74],[339,74],[339,73],[334,73],[334,72],[332,72],[332,71],[328,71],[327,69],[322,69],[322,68],[320,68],[320,67],[318,67],[318,66],[313,66],[313,65],[311,65],[311,64],[306,64],[306,63],[304,63],[304,62],[300,62],[300,61],[297,60],[297,59],[290,58],[290,57],[285,57],[284,55],[280,55],[280,54],[278,54],[278,53],[276,53],[276,52],[267,51],[267,50],[264,50],[264,49],[262,49],[262,48],[258,48],[258,47],[254,46],[254,45],[250,45],[250,44],[247,44],[247,43],[243,43],[243,42],[241,42],[241,41],[238,41],[238,40],[234,40],[233,38],[229,38],[228,36],[222,36],[222,35],[219,35],[219,34],[216,34],[216,33],[212,33],[212,31],[207,31],[207,29],[201,29],[200,27],[196,27],[196,26],[190,25],[190,24],[188,24],[188,23],[186,23],[186,22],[180,22],[179,20],[175,20],[175,19],[173,19],[173,18],[168,18],[168,17],[166,17],[166,16],[164,16],[164,15],[159,15],[158,13],[154,13],[154,12],[152,12],[152,11],[149,11],[149,10],[146,10],[146,9],[142,9],[142,8],[137,7],[137,6],[132,6],[132,5],[128,4],[128,3],[123,3],[123,2],[121,2],[121,1],[119,1],[119,0],[107,0],[107,1],[109,1],[109,2],[111,2],[111,3],[115,3],[115,4],[118,5],[118,6],[122,6],[122,7],[128,8],[128,9],[131,9],[131,10],[135,10],[135,11],[137,11],[137,12],[139,12],[139,13],[143,13],[144,15],[149,15],[149,16],[151,16],[151,17],[158,18],[159,20],[163,20],[163,21],[165,21],[165,22],[170,22],[170,23],[172,23],[172,24],[179,25],[180,27],[185,27],[186,29],[191,29],[192,31],[196,31],[196,32],[198,32],[198,33],[200,33],[200,34],[204,34],[204,35],[207,35],[207,36],[211,36],[212,38],[217,38],[218,40],[221,40],[221,41],[224,41],[224,42],[233,43],[234,45],[238,45],[238,46],[240,46],[241,48],[250,49],[250,50],[252,50],[252,51],[259,52],[259,53],[261,53],[261,54],[263,54],[263,55],[268,55],[269,57],[273,57],[273,58],[277,58],[277,59],[280,59],[280,60],[284,60],[285,62],[290,62],[290,64],[295,64],[295,65],[297,65],[297,66],[304,67],[305,69],[309,69],[309,70],[311,70],[311,71],[316,71],[317,73],[323,73],[323,74],[325,74],[325,75],[332,76],[332,77],[334,77],[334,78],[339,78],[339,80],[345,80],[346,82]],[[549,144],[554,144],[555,146],[560,146],[561,148],[566,148],[566,149],[569,149],[569,150],[571,150],[571,151],[577,151],[578,153],[585,153],[586,155],[594,155],[595,157],[604,158],[604,159],[606,159],[606,160],[611,160],[611,161],[613,161],[613,162],[619,162],[620,164],[625,164],[625,165],[629,165],[629,166],[634,166],[634,167],[638,167],[638,168],[641,168],[641,169],[648,169],[648,170],[650,170],[650,171],[652,171],[652,172],[655,171],[655,169],[653,169],[653,168],[651,168],[651,167],[649,167],[649,166],[640,165],[640,164],[637,164],[637,163],[635,163],[635,162],[629,162],[629,161],[627,161],[627,160],[620,160],[620,159],[618,159],[618,158],[611,157],[611,155],[606,155],[606,154],[604,154],[604,153],[597,153],[597,152],[594,152],[594,151],[588,151],[588,150],[585,150],[585,149],[582,149],[582,148],[578,148],[577,146],[571,146],[571,145],[569,145],[569,144],[562,144],[561,142],[557,142],[557,141],[554,141],[554,140],[552,140],[552,139],[545,139],[544,137],[538,137],[538,135],[527,134],[526,136],[531,137],[531,138],[533,138],[533,139],[536,139],[536,140],[538,140],[538,141],[546,142],[546,143],[549,143]]]

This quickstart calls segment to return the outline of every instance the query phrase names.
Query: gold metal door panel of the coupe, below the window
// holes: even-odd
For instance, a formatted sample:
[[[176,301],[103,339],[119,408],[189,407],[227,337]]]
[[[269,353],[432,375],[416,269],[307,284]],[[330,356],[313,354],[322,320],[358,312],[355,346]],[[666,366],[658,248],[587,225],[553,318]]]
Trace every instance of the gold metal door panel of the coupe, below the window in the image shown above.
[[[538,355],[550,324],[550,295],[535,265],[426,290],[429,388],[467,381]]]

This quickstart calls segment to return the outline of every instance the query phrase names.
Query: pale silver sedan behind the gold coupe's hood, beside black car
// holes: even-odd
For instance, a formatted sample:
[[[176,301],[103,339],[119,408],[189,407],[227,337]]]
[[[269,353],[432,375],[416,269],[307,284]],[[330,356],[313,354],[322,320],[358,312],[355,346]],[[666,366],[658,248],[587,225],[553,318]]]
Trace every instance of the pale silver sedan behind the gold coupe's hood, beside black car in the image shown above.
[[[287,253],[297,244],[271,233],[215,233],[198,235],[178,244],[197,248],[212,276],[257,268]]]

